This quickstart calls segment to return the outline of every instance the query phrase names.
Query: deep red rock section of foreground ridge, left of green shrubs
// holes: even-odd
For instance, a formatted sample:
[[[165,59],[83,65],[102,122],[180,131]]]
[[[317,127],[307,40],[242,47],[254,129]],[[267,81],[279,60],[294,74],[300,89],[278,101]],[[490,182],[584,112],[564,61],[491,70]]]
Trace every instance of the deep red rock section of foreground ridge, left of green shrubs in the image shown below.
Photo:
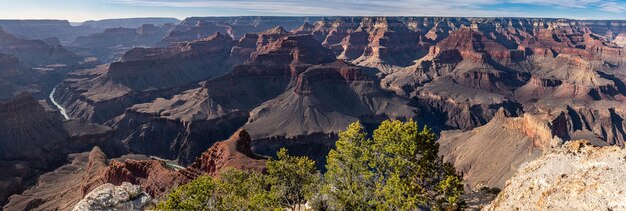
[[[228,140],[215,143],[182,170],[174,170],[159,160],[113,160],[103,170],[102,178],[115,185],[123,182],[138,184],[150,195],[159,197],[175,185],[187,183],[203,174],[217,176],[227,168],[263,171],[265,160],[252,153],[251,142],[250,135],[239,130]]]

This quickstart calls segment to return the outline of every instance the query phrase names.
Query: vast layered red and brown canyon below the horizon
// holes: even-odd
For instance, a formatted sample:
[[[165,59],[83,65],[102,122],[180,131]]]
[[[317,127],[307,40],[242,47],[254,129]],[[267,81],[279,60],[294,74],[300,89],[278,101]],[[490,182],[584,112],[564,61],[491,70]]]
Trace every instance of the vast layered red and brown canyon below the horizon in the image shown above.
[[[386,119],[432,128],[466,192],[509,191],[528,180],[518,169],[533,173],[525,163],[575,140],[626,141],[623,21],[10,23],[0,21],[10,29],[0,29],[5,210],[71,209],[124,182],[158,199],[226,167],[264,171],[280,148],[323,171],[338,132],[355,121],[369,132]],[[66,34],[19,35],[29,27]]]

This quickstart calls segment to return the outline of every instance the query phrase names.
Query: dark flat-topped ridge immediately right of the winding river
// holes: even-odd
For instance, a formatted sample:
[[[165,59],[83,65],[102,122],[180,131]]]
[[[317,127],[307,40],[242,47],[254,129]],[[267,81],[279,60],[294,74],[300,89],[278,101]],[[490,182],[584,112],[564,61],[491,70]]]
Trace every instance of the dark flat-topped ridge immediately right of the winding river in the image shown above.
[[[229,37],[215,34],[167,48],[135,48],[120,62],[69,75],[54,97],[71,117],[102,123],[135,103],[171,96],[223,74],[233,45]]]

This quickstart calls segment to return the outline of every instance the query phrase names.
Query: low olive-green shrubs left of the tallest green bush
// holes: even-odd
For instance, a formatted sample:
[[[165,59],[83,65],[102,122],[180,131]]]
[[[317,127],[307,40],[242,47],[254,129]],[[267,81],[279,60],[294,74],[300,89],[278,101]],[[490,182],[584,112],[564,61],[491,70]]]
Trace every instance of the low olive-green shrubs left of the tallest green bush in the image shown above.
[[[201,176],[175,188],[158,210],[282,210],[300,208],[318,192],[321,176],[315,161],[287,150],[266,162],[267,174],[227,169],[219,178]]]

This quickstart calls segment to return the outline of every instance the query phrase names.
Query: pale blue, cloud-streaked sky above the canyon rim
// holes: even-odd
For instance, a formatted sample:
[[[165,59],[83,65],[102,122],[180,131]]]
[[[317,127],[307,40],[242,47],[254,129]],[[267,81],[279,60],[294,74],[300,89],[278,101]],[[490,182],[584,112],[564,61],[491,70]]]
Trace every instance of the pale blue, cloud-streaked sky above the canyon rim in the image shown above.
[[[0,19],[454,16],[626,20],[626,0],[0,0]]]

